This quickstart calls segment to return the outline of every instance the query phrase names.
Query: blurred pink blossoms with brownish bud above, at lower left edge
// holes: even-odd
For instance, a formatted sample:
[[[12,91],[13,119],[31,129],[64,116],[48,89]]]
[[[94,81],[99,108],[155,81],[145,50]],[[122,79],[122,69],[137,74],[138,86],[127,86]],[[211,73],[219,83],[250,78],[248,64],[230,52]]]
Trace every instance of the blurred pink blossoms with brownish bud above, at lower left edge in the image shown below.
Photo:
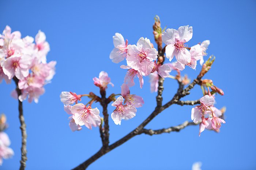
[[[14,155],[14,151],[9,147],[11,141],[8,135],[3,132],[6,128],[6,116],[2,114],[0,116],[0,165],[3,164],[3,158],[8,159]]]

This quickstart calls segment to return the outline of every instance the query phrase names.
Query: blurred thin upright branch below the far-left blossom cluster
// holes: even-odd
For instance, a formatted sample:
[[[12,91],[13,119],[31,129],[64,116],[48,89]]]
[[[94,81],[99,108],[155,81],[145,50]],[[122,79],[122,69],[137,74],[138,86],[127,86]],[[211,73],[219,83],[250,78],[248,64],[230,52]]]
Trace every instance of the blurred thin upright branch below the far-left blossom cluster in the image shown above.
[[[16,91],[18,96],[22,94],[21,90],[18,87],[19,80],[14,77],[13,78],[15,84],[16,84]],[[20,160],[20,170],[24,170],[26,167],[26,161],[27,161],[27,132],[26,132],[26,123],[23,116],[23,108],[22,108],[22,102],[19,101],[19,121],[20,121],[20,130],[21,130],[21,136],[22,136],[22,145],[21,145],[21,160]]]

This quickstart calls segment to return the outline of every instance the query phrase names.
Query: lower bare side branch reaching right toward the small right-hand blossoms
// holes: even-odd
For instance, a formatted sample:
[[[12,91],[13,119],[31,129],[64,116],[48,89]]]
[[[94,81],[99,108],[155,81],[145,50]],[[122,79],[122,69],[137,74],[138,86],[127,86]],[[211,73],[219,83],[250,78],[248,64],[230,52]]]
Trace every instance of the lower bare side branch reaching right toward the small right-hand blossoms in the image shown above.
[[[194,122],[184,122],[182,124],[179,124],[178,126],[173,126],[173,127],[169,127],[166,129],[159,129],[159,130],[152,130],[152,129],[143,129],[141,131],[141,133],[147,134],[147,135],[159,135],[162,133],[170,133],[173,131],[179,132],[181,129],[184,129],[185,127],[189,126],[189,125],[197,125]]]

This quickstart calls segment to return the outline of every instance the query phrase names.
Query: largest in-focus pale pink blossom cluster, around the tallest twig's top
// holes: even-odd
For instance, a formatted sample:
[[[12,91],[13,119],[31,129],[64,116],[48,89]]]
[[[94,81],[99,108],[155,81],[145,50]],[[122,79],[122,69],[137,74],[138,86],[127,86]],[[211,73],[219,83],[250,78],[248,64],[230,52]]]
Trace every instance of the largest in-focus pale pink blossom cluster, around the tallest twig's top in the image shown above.
[[[140,88],[142,88],[144,83],[143,76],[149,75],[151,92],[154,92],[158,88],[159,76],[166,78],[172,70],[184,70],[185,66],[195,70],[198,60],[200,60],[202,66],[204,62],[203,56],[207,55],[206,50],[210,41],[205,40],[201,44],[187,47],[185,43],[192,38],[192,35],[193,29],[189,25],[179,27],[178,30],[166,29],[166,31],[161,32],[161,36],[157,37],[156,42],[158,43],[159,37],[161,37],[163,43],[166,44],[166,58],[170,61],[172,61],[174,56],[176,58],[176,61],[173,63],[162,64],[159,61],[156,62],[158,51],[153,48],[153,44],[150,43],[149,39],[141,37],[136,45],[128,45],[128,40],[124,41],[124,37],[120,33],[116,33],[113,36],[114,49],[110,53],[109,58],[114,63],[119,63],[126,59],[127,66],[121,65],[120,67],[128,69],[124,83],[127,83],[129,87],[135,84],[134,78],[137,76]]]

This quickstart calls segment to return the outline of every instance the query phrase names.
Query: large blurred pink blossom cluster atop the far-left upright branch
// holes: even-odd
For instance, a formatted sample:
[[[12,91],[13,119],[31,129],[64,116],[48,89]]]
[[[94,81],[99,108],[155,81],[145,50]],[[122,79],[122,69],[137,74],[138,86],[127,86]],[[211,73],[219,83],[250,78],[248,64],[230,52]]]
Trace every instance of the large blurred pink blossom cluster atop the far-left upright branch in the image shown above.
[[[34,43],[35,40],[35,43]],[[45,92],[44,85],[49,83],[55,74],[55,61],[46,62],[50,51],[45,33],[38,31],[35,39],[31,36],[21,38],[19,31],[11,32],[7,25],[0,34],[0,83],[4,79],[11,83],[12,78],[19,80],[18,87],[22,94],[12,92],[20,101],[28,98],[38,103],[38,98]]]

